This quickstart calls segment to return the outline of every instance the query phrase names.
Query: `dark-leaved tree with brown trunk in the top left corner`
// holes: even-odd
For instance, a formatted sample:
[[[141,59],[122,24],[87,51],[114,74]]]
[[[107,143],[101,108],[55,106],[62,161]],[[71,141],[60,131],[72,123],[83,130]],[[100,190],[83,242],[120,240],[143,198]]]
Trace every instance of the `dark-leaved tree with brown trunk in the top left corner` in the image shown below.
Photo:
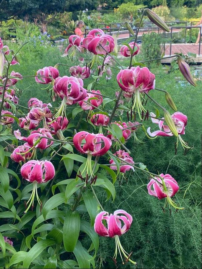
[[[52,22],[58,12],[65,10],[66,0],[3,0],[1,11],[7,16],[17,15],[19,18],[37,18],[42,24],[43,32],[46,26]],[[47,19],[49,14],[53,14]]]

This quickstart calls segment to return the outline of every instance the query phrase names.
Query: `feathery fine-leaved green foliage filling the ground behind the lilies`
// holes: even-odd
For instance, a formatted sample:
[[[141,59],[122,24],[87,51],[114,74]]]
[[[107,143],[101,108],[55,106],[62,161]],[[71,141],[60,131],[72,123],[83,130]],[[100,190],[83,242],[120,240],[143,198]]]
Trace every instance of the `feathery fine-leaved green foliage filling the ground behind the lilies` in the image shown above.
[[[13,47],[16,45],[13,44]],[[78,60],[72,63],[67,57],[61,57],[58,48],[39,46],[33,48],[31,44],[26,45],[21,51],[21,64],[14,66],[15,71],[22,75],[34,75],[39,68],[54,66],[61,62],[69,67],[78,65]],[[127,66],[126,62],[122,62]],[[69,68],[59,67],[60,75],[69,75]],[[97,70],[95,70],[96,72]],[[113,73],[116,69],[113,69]],[[107,201],[106,193],[96,189],[98,198],[104,209],[112,213],[116,209],[124,209],[133,216],[133,224],[130,230],[120,240],[125,250],[132,251],[132,259],[137,262],[136,266],[129,263],[121,265],[118,258],[119,268],[201,268],[201,131],[202,131],[202,83],[198,81],[196,88],[189,85],[179,71],[166,74],[162,66],[153,67],[151,71],[156,74],[156,87],[167,90],[178,108],[188,117],[186,134],[183,139],[193,146],[187,155],[179,145],[177,155],[174,155],[174,137],[159,137],[149,140],[145,137],[142,129],[138,129],[137,137],[141,143],[135,143],[133,139],[126,143],[131,151],[135,162],[142,162],[154,173],[169,173],[178,182],[180,191],[177,193],[177,203],[185,207],[185,210],[175,213],[169,209],[164,213],[161,206],[163,201],[148,195],[146,184],[148,178],[141,172],[126,173],[125,180],[119,186],[116,182],[115,201]],[[176,77],[181,77],[177,82]],[[84,87],[92,82],[92,78],[84,81]],[[22,90],[20,105],[27,106],[31,97],[37,97],[43,102],[51,101],[47,93],[46,85],[37,84],[33,77],[24,78],[18,82],[17,87]],[[100,79],[94,86],[101,93],[113,97],[115,91],[119,90],[116,82],[116,73],[110,81]],[[171,113],[171,109],[165,102],[164,94],[159,91],[150,91],[151,96],[158,100]],[[60,100],[58,100],[60,103]],[[53,106],[57,107],[54,103]],[[149,111],[155,112],[153,103],[148,100]],[[106,105],[111,109],[111,103]],[[23,113],[27,110],[21,108]],[[68,112],[71,108],[68,108]],[[162,115],[162,113],[161,113]],[[79,118],[79,116],[77,117]],[[76,119],[77,119],[76,118]],[[119,120],[117,118],[117,120]],[[123,120],[127,120],[125,112]],[[144,122],[147,129],[151,126],[154,131],[157,126],[151,120]],[[106,158],[102,158],[107,163]],[[104,173],[104,172],[103,172]],[[83,239],[88,244],[88,238]],[[110,238],[100,238],[100,248],[96,257],[96,268],[114,268],[111,257],[114,253],[114,241]]]

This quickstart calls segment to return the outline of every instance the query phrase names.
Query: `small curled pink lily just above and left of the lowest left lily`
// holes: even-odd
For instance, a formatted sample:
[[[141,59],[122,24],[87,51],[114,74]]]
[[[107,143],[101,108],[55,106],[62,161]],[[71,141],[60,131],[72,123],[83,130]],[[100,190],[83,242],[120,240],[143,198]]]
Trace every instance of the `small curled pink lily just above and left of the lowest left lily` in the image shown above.
[[[31,147],[28,145],[28,143],[24,143],[24,145],[18,146],[16,149],[13,150],[13,153],[10,155],[10,158],[17,162],[25,162],[26,160],[29,160],[32,157],[32,153],[29,151]],[[24,154],[18,154],[18,153],[24,153]]]

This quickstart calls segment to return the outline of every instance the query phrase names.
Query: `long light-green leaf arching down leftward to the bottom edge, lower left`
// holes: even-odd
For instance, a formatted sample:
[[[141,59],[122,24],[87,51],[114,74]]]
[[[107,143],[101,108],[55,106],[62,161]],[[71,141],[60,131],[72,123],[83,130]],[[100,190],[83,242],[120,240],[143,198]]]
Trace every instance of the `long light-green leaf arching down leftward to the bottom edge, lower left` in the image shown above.
[[[25,259],[23,260],[23,268],[29,268],[31,262],[36,259],[42,253],[42,251],[46,249],[46,247],[53,244],[55,244],[55,241],[52,239],[44,239],[37,242],[37,244],[35,244],[31,250],[28,251]]]

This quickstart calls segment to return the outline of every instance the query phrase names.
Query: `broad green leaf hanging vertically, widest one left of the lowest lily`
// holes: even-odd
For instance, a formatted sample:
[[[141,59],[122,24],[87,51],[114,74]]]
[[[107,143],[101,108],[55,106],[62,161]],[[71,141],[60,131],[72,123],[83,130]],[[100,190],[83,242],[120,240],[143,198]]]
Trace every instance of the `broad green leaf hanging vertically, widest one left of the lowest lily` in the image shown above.
[[[74,251],[80,231],[78,211],[68,211],[63,226],[63,244],[67,252]]]

